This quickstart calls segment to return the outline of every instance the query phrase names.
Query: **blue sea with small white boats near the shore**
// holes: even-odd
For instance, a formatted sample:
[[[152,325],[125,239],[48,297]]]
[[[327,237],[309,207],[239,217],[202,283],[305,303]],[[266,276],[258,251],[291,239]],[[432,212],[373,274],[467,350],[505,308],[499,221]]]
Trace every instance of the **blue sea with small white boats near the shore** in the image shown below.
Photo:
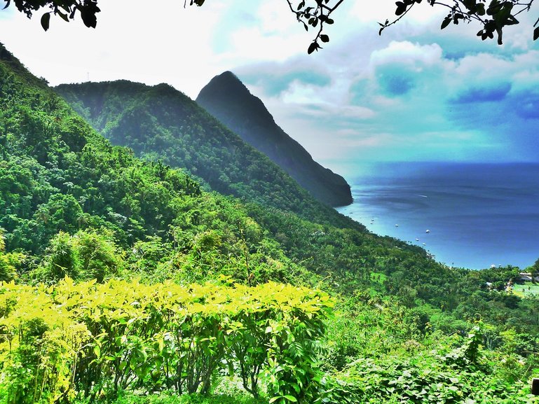
[[[338,211],[446,265],[524,269],[539,258],[539,164],[385,163],[348,182],[354,203]]]

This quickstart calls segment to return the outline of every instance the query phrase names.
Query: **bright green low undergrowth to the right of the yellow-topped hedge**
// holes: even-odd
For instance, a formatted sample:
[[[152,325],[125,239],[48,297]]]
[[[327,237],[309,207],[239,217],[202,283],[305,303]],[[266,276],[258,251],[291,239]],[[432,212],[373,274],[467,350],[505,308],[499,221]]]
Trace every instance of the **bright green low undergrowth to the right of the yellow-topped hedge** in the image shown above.
[[[515,354],[519,336],[475,323],[469,333],[445,335],[423,329],[410,309],[396,302],[358,302],[355,312],[336,312],[328,323],[328,403],[509,404],[537,403],[529,389],[533,356]],[[341,307],[340,310],[346,307]]]

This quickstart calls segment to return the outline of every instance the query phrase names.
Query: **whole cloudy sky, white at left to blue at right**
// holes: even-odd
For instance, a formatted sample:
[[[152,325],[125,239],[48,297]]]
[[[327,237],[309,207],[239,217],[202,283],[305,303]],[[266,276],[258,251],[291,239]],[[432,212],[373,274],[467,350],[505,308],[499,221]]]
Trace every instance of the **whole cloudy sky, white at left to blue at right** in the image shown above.
[[[395,2],[348,0],[329,43],[307,55],[315,33],[285,0],[99,6],[96,29],[53,17],[43,32],[41,12],[29,20],[12,4],[0,11],[0,42],[50,85],[169,83],[195,99],[233,71],[285,132],[343,174],[364,161],[539,161],[537,8],[498,46],[476,25],[441,31],[445,12],[427,2],[378,36]]]

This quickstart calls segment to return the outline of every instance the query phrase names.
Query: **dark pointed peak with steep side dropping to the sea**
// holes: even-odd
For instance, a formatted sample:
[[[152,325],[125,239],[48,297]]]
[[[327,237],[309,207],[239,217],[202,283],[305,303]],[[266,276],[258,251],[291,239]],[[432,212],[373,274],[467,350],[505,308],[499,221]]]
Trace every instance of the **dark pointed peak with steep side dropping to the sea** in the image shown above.
[[[212,78],[196,102],[280,165],[321,202],[332,206],[352,203],[346,180],[315,162],[303,146],[275,123],[261,99],[252,95],[231,71]]]

